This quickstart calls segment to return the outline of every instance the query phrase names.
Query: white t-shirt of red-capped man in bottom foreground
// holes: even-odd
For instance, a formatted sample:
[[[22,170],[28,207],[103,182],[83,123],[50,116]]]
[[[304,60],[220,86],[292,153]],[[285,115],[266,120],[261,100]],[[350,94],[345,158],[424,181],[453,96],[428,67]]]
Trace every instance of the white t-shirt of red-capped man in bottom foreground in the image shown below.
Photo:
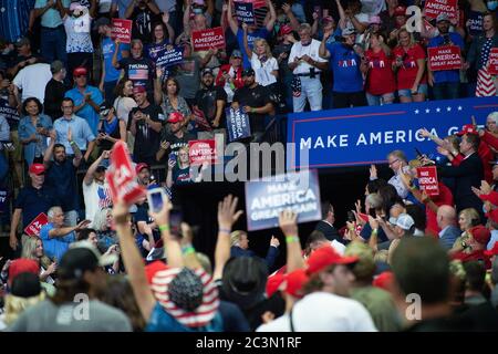
[[[295,332],[377,332],[370,313],[357,301],[314,292],[292,309]],[[256,332],[290,332],[289,314],[260,325]]]

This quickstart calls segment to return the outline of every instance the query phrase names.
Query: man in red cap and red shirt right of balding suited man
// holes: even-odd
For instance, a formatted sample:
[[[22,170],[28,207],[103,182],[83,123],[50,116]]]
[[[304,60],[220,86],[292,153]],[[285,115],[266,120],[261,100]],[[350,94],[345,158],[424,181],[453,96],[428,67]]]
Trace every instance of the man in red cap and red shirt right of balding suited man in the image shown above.
[[[467,242],[463,242],[461,251],[454,253],[452,258],[463,262],[484,261],[486,269],[491,268],[491,262],[485,254],[486,246],[491,238],[491,232],[484,226],[478,225],[469,229],[468,233],[470,233],[470,238]]]

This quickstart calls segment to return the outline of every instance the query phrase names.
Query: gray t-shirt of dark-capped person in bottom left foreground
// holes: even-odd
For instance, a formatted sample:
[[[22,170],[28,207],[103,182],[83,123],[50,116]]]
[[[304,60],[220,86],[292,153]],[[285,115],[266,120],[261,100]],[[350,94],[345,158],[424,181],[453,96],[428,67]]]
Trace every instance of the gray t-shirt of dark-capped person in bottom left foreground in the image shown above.
[[[97,300],[56,306],[44,300],[28,309],[8,332],[132,332],[123,311]]]

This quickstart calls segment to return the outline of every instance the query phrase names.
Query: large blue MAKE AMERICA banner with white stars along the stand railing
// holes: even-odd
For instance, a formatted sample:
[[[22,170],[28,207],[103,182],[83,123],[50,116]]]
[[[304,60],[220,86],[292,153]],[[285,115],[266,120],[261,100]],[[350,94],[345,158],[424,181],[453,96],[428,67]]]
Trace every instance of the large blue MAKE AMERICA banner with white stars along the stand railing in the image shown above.
[[[497,97],[432,101],[375,107],[342,108],[289,115],[288,168],[301,166],[300,155],[309,149],[309,168],[385,163],[387,154],[402,149],[408,158],[415,148],[429,153],[436,146],[419,136],[427,128],[439,137],[459,132],[465,124],[485,124],[498,111]]]

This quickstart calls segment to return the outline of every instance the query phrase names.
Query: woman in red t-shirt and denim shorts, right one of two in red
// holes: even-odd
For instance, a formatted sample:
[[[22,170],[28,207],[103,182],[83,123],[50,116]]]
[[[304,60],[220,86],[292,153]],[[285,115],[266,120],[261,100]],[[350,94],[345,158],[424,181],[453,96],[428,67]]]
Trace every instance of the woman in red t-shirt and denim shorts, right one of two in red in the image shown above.
[[[413,33],[405,29],[398,31],[397,40],[400,44],[393,51],[393,70],[396,72],[400,102],[423,102],[427,96],[425,52],[415,42]]]

